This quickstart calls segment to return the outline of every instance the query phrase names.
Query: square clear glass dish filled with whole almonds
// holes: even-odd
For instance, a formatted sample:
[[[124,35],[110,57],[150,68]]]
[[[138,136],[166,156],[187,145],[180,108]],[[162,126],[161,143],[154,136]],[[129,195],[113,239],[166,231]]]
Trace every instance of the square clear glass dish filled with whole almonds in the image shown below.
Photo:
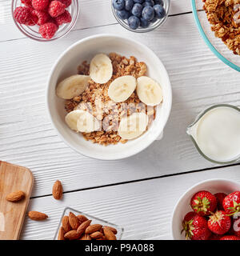
[[[54,240],[121,240],[122,234],[120,226],[66,207]]]

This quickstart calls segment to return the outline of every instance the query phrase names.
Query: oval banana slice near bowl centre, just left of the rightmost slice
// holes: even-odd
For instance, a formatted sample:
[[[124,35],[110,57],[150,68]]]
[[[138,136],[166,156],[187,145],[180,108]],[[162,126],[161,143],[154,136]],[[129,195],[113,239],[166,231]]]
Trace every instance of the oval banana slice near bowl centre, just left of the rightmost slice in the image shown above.
[[[136,78],[132,75],[125,75],[111,82],[108,88],[108,96],[114,102],[124,102],[136,89]]]

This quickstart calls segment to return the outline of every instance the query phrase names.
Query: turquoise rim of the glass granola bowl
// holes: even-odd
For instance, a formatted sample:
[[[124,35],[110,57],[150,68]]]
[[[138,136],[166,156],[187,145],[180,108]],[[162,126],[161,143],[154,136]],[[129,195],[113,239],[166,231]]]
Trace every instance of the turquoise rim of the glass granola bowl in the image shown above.
[[[202,29],[202,25],[201,22],[199,21],[198,18],[198,10],[196,8],[196,2],[195,0],[192,0],[192,10],[193,10],[193,14],[194,14],[194,20],[197,24],[198,27],[198,31],[201,34],[204,42],[206,42],[206,45],[210,48],[210,50],[222,61],[224,62],[226,65],[230,66],[231,68],[233,68],[234,70],[237,70],[238,72],[240,72],[240,66],[235,65],[234,63],[230,62],[228,59],[226,59],[224,56],[222,56],[222,54],[220,54],[218,52],[218,50],[216,50],[216,48],[212,45],[212,43],[210,42],[210,40],[207,38],[204,30]]]

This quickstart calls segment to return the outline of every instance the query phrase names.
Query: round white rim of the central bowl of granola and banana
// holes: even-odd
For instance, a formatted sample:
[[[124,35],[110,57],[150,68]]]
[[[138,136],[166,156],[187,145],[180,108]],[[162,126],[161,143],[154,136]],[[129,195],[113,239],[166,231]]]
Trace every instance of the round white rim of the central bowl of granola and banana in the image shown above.
[[[95,38],[121,38],[121,39],[124,39],[124,40],[127,40],[129,42],[134,42],[134,43],[137,43],[138,46],[142,47],[143,50],[147,50],[149,52],[151,52],[152,54],[154,54],[156,56],[156,58],[158,58],[158,55],[154,53],[153,50],[151,50],[148,46],[142,44],[142,42],[138,42],[132,38],[127,38],[125,36],[122,36],[122,35],[116,35],[116,34],[95,34],[95,35],[92,35],[92,36],[89,36],[89,37],[86,37],[86,38],[82,38],[80,40],[78,40],[78,42],[74,42],[74,44],[70,45],[66,50],[64,50],[62,52],[62,54],[59,55],[58,59],[54,62],[54,66],[51,68],[50,70],[50,74],[49,74],[49,77],[47,79],[47,86],[46,86],[46,106],[47,106],[47,112],[48,112],[48,115],[49,115],[49,118],[50,118],[50,122],[52,124],[52,126],[54,126],[55,130],[57,131],[57,134],[58,136],[62,139],[63,142],[66,143],[67,146],[69,146],[72,150],[74,150],[75,152],[77,152],[78,154],[82,154],[88,158],[93,158],[93,159],[98,159],[98,160],[106,160],[106,161],[109,161],[109,160],[119,160],[119,159],[124,159],[124,158],[129,158],[131,156],[134,156],[135,154],[138,154],[140,153],[142,150],[145,150],[148,146],[150,146],[150,144],[152,144],[154,142],[154,140],[156,140],[158,138],[158,136],[160,134],[162,134],[165,126],[166,126],[166,123],[170,117],[170,112],[171,112],[171,108],[172,108],[172,87],[171,87],[171,82],[170,82],[170,77],[169,77],[169,74],[167,73],[166,71],[166,68],[165,66],[163,65],[162,61],[160,60],[160,58],[158,58],[158,62],[160,62],[162,64],[162,67],[164,68],[165,70],[165,75],[166,75],[166,78],[167,80],[169,81],[169,86],[168,86],[168,108],[167,108],[167,112],[166,112],[166,121],[163,125],[163,128],[162,130],[159,131],[158,134],[155,134],[155,136],[152,136],[152,139],[150,139],[148,142],[146,142],[146,144],[142,147],[142,148],[135,148],[134,152],[130,153],[130,154],[125,154],[125,155],[120,155],[118,154],[118,156],[114,155],[114,156],[111,156],[111,157],[99,157],[99,156],[94,156],[94,155],[90,155],[90,154],[85,154],[85,153],[82,153],[80,152],[80,150],[77,150],[74,146],[71,145],[70,142],[68,142],[66,140],[66,138],[64,138],[62,136],[62,134],[59,132],[57,126],[55,126],[55,123],[54,123],[54,120],[50,114],[50,80],[52,78],[52,74],[54,73],[54,70],[55,68],[58,66],[58,62],[62,59],[62,57],[70,50],[72,50],[75,46],[77,46],[78,44],[81,44],[82,42],[87,42],[89,40],[92,40],[92,39],[95,39]]]

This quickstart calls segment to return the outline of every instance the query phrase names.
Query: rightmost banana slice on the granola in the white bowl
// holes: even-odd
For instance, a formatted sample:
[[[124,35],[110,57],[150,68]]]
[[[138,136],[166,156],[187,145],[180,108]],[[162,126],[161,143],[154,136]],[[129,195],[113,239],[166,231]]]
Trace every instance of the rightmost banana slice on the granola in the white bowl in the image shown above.
[[[152,78],[142,76],[137,80],[137,94],[147,106],[156,106],[162,102],[162,87]]]

